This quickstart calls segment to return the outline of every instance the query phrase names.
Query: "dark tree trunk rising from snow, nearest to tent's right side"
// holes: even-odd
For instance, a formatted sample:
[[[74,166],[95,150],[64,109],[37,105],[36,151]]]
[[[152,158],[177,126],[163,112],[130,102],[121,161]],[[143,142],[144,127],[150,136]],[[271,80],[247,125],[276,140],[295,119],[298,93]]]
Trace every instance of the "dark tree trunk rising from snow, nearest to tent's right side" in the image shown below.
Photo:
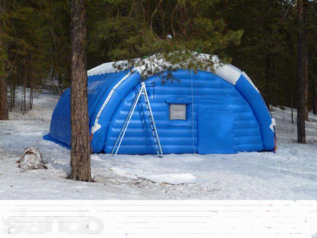
[[[297,139],[306,143],[306,83],[308,79],[308,56],[305,35],[305,6],[307,0],[297,0]]]

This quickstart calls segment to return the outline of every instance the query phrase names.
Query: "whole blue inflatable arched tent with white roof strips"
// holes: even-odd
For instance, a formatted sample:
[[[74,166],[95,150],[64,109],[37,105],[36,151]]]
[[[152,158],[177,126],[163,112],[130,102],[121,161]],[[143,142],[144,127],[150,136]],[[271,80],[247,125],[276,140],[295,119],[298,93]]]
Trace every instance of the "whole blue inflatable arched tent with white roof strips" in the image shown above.
[[[111,153],[141,87],[142,67],[117,72],[113,62],[88,71],[88,110],[93,153]],[[163,72],[167,73],[167,72]],[[174,80],[144,82],[163,154],[274,151],[274,119],[246,73],[230,64],[209,71],[178,69]],[[70,146],[70,89],[53,112],[45,137]],[[118,154],[156,154],[151,122],[140,99]]]

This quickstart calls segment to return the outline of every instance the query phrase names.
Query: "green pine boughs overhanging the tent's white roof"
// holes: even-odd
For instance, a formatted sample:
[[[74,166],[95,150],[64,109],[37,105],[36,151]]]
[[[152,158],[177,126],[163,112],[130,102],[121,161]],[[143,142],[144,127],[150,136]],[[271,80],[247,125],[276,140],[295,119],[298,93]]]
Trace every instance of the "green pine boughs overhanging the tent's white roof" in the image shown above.
[[[89,24],[90,63],[100,62],[101,58],[128,60],[127,65],[117,65],[122,69],[156,61],[145,70],[145,74],[156,74],[162,69],[172,71],[176,65],[195,71],[212,68],[213,60],[204,54],[218,55],[219,61],[230,62],[225,49],[238,45],[243,31],[226,29],[221,17],[214,18],[215,2],[107,0],[99,5],[100,1],[90,1],[91,10],[95,9],[94,4],[107,9],[103,11],[106,17],[98,17],[100,10],[87,13],[94,21]],[[173,37],[171,43],[166,41],[167,34]]]

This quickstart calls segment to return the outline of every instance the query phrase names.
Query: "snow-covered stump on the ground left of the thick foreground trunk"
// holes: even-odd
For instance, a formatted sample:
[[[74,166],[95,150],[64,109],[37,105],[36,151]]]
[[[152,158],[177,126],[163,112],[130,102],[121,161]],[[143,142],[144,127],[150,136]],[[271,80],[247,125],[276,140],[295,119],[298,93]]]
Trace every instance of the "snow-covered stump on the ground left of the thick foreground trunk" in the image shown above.
[[[47,169],[44,165],[42,154],[37,147],[29,146],[24,149],[23,155],[17,161],[23,170]]]

